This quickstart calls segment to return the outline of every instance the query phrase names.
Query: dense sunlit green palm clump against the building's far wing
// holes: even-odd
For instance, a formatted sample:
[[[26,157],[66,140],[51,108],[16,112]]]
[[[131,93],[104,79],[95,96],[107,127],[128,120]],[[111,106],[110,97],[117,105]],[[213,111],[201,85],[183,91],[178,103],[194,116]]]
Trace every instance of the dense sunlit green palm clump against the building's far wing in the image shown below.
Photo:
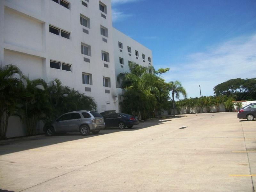
[[[134,62],[128,65],[130,73],[120,73],[117,76],[117,82],[121,82],[121,87],[125,90],[124,101],[120,103],[122,110],[137,116],[141,115],[146,119],[160,109],[167,109],[168,84],[161,74],[167,72],[169,68],[156,71],[150,65],[142,67]]]

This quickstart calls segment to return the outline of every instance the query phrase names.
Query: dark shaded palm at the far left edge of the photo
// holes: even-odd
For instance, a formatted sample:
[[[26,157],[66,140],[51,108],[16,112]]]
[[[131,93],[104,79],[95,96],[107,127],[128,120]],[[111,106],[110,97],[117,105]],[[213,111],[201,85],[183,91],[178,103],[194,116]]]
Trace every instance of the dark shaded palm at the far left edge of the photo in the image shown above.
[[[17,86],[22,75],[20,68],[12,64],[0,67],[0,139],[6,137],[8,119],[15,112],[16,99],[18,98]]]

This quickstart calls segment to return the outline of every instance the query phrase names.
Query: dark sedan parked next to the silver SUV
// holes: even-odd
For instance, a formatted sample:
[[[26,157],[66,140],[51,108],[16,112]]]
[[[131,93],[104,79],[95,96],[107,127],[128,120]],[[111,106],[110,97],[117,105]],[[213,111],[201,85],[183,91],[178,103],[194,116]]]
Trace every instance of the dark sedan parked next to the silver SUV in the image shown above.
[[[110,113],[103,117],[106,127],[119,127],[119,129],[124,129],[126,126],[132,128],[133,125],[140,123],[137,116],[124,113]]]

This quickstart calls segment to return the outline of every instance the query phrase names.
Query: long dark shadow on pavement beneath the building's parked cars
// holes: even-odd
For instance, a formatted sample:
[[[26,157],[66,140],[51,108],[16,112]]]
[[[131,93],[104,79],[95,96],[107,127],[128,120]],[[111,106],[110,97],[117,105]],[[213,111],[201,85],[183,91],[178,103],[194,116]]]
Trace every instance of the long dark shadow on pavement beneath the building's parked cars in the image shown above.
[[[15,153],[19,151],[24,151],[24,150],[40,150],[36,148],[48,146],[48,145],[54,145],[62,142],[67,142],[67,141],[74,141],[74,140],[80,140],[80,139],[86,139],[94,136],[99,136],[99,135],[105,135],[105,134],[110,134],[114,132],[125,132],[125,131],[136,131],[140,129],[144,129],[147,127],[155,126],[158,124],[163,124],[166,121],[171,121],[171,120],[148,120],[143,123],[140,123],[138,125],[135,125],[132,128],[126,128],[123,130],[116,128],[107,128],[104,130],[100,130],[98,134],[92,134],[88,136],[82,136],[78,132],[70,132],[65,135],[57,134],[52,137],[47,137],[47,136],[40,136],[36,138],[31,138],[31,139],[23,139],[23,140],[15,140],[15,141],[6,141],[3,144],[0,144],[0,155],[5,155],[9,153]]]

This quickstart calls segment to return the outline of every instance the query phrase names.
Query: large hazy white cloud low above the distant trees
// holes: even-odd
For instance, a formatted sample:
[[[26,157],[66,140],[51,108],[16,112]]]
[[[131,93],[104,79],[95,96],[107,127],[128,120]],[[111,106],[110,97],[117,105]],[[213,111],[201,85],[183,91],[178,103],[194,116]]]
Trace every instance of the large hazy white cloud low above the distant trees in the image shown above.
[[[239,37],[187,57],[187,62],[163,74],[166,81],[179,80],[189,97],[213,95],[213,87],[233,78],[256,77],[256,35]],[[174,70],[172,70],[174,69]]]

